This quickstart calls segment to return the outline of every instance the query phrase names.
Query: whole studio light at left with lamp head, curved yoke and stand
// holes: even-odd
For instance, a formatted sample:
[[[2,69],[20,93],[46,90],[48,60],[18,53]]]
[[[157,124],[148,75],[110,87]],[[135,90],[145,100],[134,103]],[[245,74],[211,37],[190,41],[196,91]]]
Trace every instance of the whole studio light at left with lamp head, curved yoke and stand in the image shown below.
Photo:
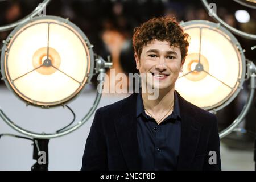
[[[0,30],[12,26],[14,25],[1,27]],[[92,48],[93,45],[79,27],[68,19],[57,16],[30,16],[29,21],[17,26],[3,41],[2,80],[27,105],[42,108],[68,107],[65,104],[81,93],[93,75],[99,74],[96,97],[89,111],[73,125],[75,113],[68,107],[73,113],[73,120],[55,133],[36,133],[24,129],[0,108],[0,117],[7,125],[33,138],[21,136],[34,142],[33,159],[36,163],[31,167],[32,170],[47,170],[49,139],[78,129],[88,121],[100,102],[105,68],[112,67],[112,63],[94,54]],[[46,152],[46,163],[43,165],[38,163],[40,150]]]

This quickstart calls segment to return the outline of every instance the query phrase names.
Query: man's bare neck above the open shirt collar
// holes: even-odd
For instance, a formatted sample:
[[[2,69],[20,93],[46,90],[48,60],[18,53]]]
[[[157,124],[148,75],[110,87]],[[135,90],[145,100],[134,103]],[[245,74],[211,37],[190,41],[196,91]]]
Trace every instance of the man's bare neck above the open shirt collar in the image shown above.
[[[155,100],[149,100],[149,95],[148,92],[142,93],[142,100],[144,108],[153,114],[164,113],[174,105],[174,88],[159,89],[159,96]]]

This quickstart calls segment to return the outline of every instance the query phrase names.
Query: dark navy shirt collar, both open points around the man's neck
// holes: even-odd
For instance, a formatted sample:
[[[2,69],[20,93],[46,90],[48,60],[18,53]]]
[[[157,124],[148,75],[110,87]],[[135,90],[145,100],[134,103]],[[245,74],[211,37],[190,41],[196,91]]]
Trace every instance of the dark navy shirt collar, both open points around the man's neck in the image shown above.
[[[141,95],[141,88],[139,89],[139,93],[137,95],[137,103],[136,103],[136,117],[138,117],[140,114],[145,114],[142,95]],[[179,106],[179,98],[177,96],[176,90],[174,90],[174,111],[172,114],[175,118],[180,116],[180,106]]]

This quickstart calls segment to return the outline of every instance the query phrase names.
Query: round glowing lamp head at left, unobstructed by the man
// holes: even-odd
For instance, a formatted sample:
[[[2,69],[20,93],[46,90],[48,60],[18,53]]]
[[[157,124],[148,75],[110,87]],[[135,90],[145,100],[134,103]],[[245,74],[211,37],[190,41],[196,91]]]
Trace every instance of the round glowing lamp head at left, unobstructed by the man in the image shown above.
[[[75,24],[42,16],[16,27],[2,47],[6,85],[27,104],[50,107],[70,101],[93,76],[88,38]]]

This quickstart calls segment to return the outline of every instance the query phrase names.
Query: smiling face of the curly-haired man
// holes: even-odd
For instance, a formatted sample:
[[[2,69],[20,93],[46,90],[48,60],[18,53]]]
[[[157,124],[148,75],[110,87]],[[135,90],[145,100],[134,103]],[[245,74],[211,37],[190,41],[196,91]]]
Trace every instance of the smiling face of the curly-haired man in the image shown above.
[[[179,47],[170,46],[166,40],[152,40],[150,44],[142,47],[139,57],[135,53],[136,68],[140,74],[147,74],[147,84],[152,88],[172,89],[182,71],[184,61],[181,63]],[[154,80],[158,84],[154,85]]]

